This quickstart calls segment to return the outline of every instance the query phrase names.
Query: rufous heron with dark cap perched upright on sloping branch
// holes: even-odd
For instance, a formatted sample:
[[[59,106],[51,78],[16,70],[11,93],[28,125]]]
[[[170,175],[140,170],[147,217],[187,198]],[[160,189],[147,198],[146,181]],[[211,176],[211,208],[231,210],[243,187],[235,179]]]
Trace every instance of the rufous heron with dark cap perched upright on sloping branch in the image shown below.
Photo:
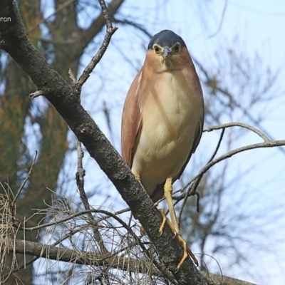
[[[195,152],[203,123],[202,88],[185,42],[172,31],[160,31],[125,99],[122,157],[153,202],[165,195],[172,231],[184,248],[178,269],[190,249],[180,235],[172,185]]]

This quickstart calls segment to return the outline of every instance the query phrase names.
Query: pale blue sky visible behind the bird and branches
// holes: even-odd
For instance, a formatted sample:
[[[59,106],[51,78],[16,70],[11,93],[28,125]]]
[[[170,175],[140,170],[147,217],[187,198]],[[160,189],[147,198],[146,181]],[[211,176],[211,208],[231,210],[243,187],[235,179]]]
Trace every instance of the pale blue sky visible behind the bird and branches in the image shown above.
[[[246,51],[251,59],[258,53],[264,65],[269,66],[271,71],[278,68],[279,77],[276,83],[276,86],[278,86],[276,93],[279,94],[279,98],[266,106],[262,105],[249,111],[255,116],[261,110],[264,110],[266,120],[261,123],[261,128],[266,130],[271,138],[276,140],[285,139],[284,1],[165,0],[152,1],[151,3],[150,1],[135,2],[126,1],[120,11],[121,14],[128,14],[130,19],[133,18],[138,21],[152,34],[165,28],[172,29],[180,34],[192,56],[197,58],[204,66],[215,66],[219,53],[224,52],[224,47],[232,47],[240,51]],[[151,9],[150,6],[152,6]],[[88,21],[88,17],[85,19]],[[120,115],[123,100],[130,83],[140,66],[142,66],[145,48],[149,41],[149,38],[142,33],[140,35],[135,33],[138,33],[138,31],[120,26],[113,36],[103,60],[95,68],[88,80],[88,84],[83,88],[83,105],[118,151],[120,151]],[[140,38],[140,46],[135,43],[138,38]],[[120,51],[120,56],[118,56],[118,51]],[[114,54],[117,55],[115,59]],[[94,55],[94,51],[88,50],[88,55],[83,60],[83,66],[90,61],[90,56]],[[129,61],[128,64],[125,63],[126,60]],[[106,67],[109,68],[108,74],[105,73],[106,69],[104,68]],[[255,71],[254,68],[257,70]],[[259,68],[259,66],[252,66],[251,71],[259,74]],[[199,75],[199,68],[197,68],[197,71]],[[221,71],[221,74],[223,72]],[[105,83],[102,81],[103,76],[105,76]],[[96,86],[98,82],[103,83]],[[93,104],[90,104],[90,95],[93,96]],[[244,96],[244,94],[241,94],[241,96]],[[101,107],[104,102],[107,102],[112,110],[112,132],[109,131],[108,125],[103,119]],[[241,115],[237,117],[235,115],[233,114],[232,118],[243,119]],[[224,118],[223,123],[229,123],[229,118],[226,116]],[[73,140],[72,135],[71,140]],[[209,157],[204,155],[204,150],[214,148],[212,143],[214,141],[217,141],[217,133],[205,133],[201,145],[198,147],[197,157],[204,156],[203,160],[207,162]],[[242,133],[242,138],[234,142],[232,147],[249,145],[254,142],[260,142],[256,135]],[[285,151],[285,147],[283,149]],[[224,151],[225,148],[222,148],[218,155],[222,155]],[[71,156],[68,160],[76,161],[76,157]],[[93,171],[90,171],[92,167],[96,167],[96,164],[93,160],[88,159],[88,155],[86,155],[85,168],[88,170],[86,172],[86,185],[92,184],[94,177]],[[215,168],[217,173],[218,170],[218,167]],[[239,173],[248,173],[239,184],[234,183],[232,185],[232,196],[224,198],[222,207],[231,214],[235,211],[243,211],[245,214],[254,211],[259,212],[259,216],[254,220],[255,224],[249,225],[252,231],[249,234],[249,239],[259,239],[258,242],[266,244],[271,250],[267,254],[264,251],[258,252],[259,249],[254,249],[254,247],[249,249],[244,246],[244,252],[248,254],[251,266],[247,264],[248,268],[245,270],[233,265],[232,269],[227,269],[224,274],[257,284],[285,284],[285,223],[282,222],[282,217],[285,215],[284,170],[285,152],[278,149],[244,152],[229,159],[229,183]],[[63,175],[66,175],[68,171],[65,170]],[[95,188],[98,185],[92,187]],[[91,190],[92,187],[90,187]],[[110,202],[108,207],[114,205],[119,209],[125,207],[124,202],[115,190],[111,195],[115,198],[113,204]],[[237,207],[237,204],[232,204],[233,199],[241,201],[240,209],[233,208]],[[274,215],[276,215],[276,219]],[[266,219],[267,216],[271,219]],[[224,219],[227,219],[227,217],[224,217]],[[268,221],[271,222],[268,223]],[[244,226],[247,226],[246,220]],[[214,241],[212,241],[212,244],[214,244]],[[209,243],[209,250],[212,244]],[[221,256],[217,259],[222,266],[226,267],[227,258]]]

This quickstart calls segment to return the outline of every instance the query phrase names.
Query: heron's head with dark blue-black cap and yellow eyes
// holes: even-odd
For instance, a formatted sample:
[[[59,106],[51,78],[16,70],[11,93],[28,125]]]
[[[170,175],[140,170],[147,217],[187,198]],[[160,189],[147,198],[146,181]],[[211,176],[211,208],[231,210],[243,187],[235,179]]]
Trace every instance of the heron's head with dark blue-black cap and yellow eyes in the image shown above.
[[[147,47],[147,58],[157,72],[182,68],[183,58],[189,57],[183,39],[170,30],[155,34]]]

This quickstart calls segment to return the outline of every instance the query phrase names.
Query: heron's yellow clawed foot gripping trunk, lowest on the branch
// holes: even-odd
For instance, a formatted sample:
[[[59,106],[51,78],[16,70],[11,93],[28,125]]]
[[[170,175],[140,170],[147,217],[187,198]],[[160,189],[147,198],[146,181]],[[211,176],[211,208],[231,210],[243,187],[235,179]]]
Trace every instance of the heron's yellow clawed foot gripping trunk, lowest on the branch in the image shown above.
[[[182,247],[183,247],[182,259],[180,260],[179,264],[177,265],[177,271],[180,269],[180,267],[182,266],[184,261],[187,259],[188,254],[190,255],[190,257],[194,261],[195,265],[199,266],[199,262],[197,261],[195,255],[191,252],[191,249],[187,246],[187,242],[185,241],[185,239],[182,239],[181,234],[179,232],[175,231],[175,227],[173,227],[170,220],[166,217],[163,209],[159,209],[159,211],[162,215],[162,223],[161,223],[161,226],[159,229],[159,232],[160,232],[159,237],[162,235],[163,229],[165,228],[165,224],[167,223],[168,226],[170,227],[171,232],[174,234],[173,238],[178,239],[178,241],[182,244]]]

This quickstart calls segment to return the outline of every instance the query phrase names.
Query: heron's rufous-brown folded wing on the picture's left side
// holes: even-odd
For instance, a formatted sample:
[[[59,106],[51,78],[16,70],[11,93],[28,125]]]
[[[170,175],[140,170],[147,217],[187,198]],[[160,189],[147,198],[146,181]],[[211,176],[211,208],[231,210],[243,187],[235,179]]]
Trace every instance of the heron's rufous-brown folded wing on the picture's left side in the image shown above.
[[[127,97],[122,115],[122,130],[121,130],[121,150],[123,160],[132,166],[133,164],[133,148],[135,147],[135,140],[138,138],[142,114],[140,112],[138,93],[140,92],[140,80],[142,77],[142,69],[135,77]]]

